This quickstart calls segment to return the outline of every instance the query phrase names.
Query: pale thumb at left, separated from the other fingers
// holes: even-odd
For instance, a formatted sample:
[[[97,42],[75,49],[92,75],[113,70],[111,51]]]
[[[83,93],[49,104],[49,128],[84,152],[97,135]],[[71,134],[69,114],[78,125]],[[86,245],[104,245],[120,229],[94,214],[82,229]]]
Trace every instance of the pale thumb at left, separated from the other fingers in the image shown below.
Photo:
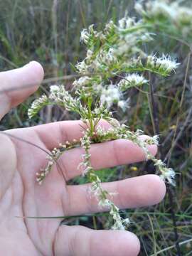
[[[43,68],[32,61],[23,68],[0,73],[0,119],[11,107],[23,102],[35,92],[43,80]]]

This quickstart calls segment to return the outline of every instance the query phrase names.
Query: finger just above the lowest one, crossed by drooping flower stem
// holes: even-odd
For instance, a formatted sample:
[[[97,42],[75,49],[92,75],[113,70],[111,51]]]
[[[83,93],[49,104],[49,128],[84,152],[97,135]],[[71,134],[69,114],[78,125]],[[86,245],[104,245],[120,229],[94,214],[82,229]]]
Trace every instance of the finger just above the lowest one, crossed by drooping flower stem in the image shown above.
[[[115,193],[110,199],[120,209],[154,205],[159,203],[166,193],[164,181],[153,174],[102,183],[102,188]],[[90,184],[68,186],[68,196],[68,202],[70,202],[68,205],[62,196],[65,215],[97,213],[107,210],[107,208],[103,209],[98,206],[97,198],[90,193]]]

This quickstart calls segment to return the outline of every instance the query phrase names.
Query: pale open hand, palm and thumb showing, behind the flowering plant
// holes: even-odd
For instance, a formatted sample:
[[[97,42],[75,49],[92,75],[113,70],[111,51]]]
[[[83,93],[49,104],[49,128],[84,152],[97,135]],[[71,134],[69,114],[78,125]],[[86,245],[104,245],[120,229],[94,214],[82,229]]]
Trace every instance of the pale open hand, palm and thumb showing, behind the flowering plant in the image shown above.
[[[23,68],[0,73],[0,90],[18,88],[0,94],[0,118],[38,89],[43,68],[31,62]],[[33,86],[28,86],[33,84]],[[23,88],[21,90],[21,87]],[[82,136],[80,121],[54,122],[24,129],[6,131],[33,142],[49,151],[60,142]],[[102,125],[107,126],[105,122]],[[142,139],[142,138],[141,138]],[[59,219],[26,219],[16,216],[58,216],[99,212],[97,201],[87,193],[88,185],[69,186],[57,166],[41,186],[36,172],[46,166],[46,153],[35,146],[0,134],[0,255],[36,256],[134,256],[139,254],[139,240],[129,231],[91,230],[82,226],[60,225]],[[156,154],[156,146],[149,146]],[[82,149],[65,152],[60,168],[66,181],[80,175],[78,164]],[[102,152],[102,154],[100,154]],[[92,145],[95,169],[144,160],[138,146],[125,140]],[[116,192],[119,208],[151,206],[165,195],[165,184],[159,176],[145,175],[123,181],[104,183]]]

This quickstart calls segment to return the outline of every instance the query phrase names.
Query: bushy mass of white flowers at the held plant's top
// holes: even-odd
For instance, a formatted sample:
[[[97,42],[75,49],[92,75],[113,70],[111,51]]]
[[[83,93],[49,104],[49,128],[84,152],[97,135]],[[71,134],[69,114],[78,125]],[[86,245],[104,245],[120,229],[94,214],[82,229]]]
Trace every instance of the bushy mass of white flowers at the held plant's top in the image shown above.
[[[99,33],[94,31],[93,26],[90,26],[88,30],[83,29],[80,41],[85,44],[91,41],[92,47],[87,49],[85,60],[76,65],[78,72],[82,74],[105,72],[119,63],[121,55],[127,58],[134,53],[142,53],[138,44],[141,41],[150,41],[151,36],[145,28],[141,28],[141,24],[141,21],[135,22],[134,18],[125,17],[119,21],[119,26],[110,21]],[[101,45],[99,50],[98,40]],[[112,46],[109,47],[108,41],[112,41]],[[97,54],[94,54],[95,48]]]

